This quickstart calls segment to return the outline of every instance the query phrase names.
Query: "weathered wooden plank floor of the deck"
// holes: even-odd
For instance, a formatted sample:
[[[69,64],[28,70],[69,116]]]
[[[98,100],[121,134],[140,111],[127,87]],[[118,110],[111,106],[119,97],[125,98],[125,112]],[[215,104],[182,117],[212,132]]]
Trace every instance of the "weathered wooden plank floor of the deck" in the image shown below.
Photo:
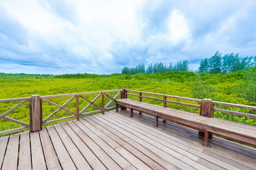
[[[134,112],[109,111],[80,121],[0,138],[2,170],[256,169],[256,149]]]

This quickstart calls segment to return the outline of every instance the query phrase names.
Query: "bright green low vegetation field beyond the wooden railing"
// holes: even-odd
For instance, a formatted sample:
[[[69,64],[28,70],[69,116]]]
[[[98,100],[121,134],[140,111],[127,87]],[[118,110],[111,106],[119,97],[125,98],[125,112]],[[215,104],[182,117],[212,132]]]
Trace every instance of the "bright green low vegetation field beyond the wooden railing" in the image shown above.
[[[242,105],[256,106],[255,101],[255,79],[256,68],[251,67],[248,70],[231,72],[227,74],[195,74],[189,71],[173,71],[156,74],[112,74],[112,75],[96,75],[96,74],[65,74],[59,76],[53,75],[27,75],[27,74],[0,74],[0,99],[29,97],[34,94],[40,96],[54,94],[68,94],[79,92],[93,92],[110,89],[135,89],[145,92],[154,92],[160,94],[170,94],[175,96],[184,96],[190,98],[211,98],[212,100],[238,103]],[[112,96],[115,93],[111,94]],[[92,100],[97,94],[87,95]],[[150,95],[149,95],[150,96]],[[155,97],[155,96],[154,96]],[[58,105],[63,105],[70,97],[49,99]],[[129,96],[138,100],[134,96]],[[110,99],[106,98],[106,103]],[[184,100],[176,100],[188,102]],[[143,99],[155,105],[163,105],[161,101]],[[19,102],[2,102],[0,103],[0,114],[11,109]],[[85,107],[88,102],[80,99],[80,109]],[[199,104],[197,102],[190,102]],[[101,105],[101,100],[97,101],[97,105]],[[114,106],[114,104],[112,104]],[[198,108],[186,107],[168,103],[167,107],[199,113]],[[230,108],[226,106],[216,107],[222,109],[231,109],[234,111],[242,111],[245,113],[256,114],[255,111],[246,109]],[[73,100],[66,107],[72,111],[76,111],[76,101]],[[54,112],[57,107],[43,102],[43,118]],[[95,110],[94,106],[88,111]],[[60,111],[52,119],[70,116],[66,111]],[[235,122],[245,123],[256,126],[256,120],[244,118],[225,113],[215,112],[216,118],[231,120]],[[11,112],[8,117],[15,118],[20,121],[29,123],[29,104],[22,105],[15,111]],[[19,125],[0,120],[0,131],[13,129]]]

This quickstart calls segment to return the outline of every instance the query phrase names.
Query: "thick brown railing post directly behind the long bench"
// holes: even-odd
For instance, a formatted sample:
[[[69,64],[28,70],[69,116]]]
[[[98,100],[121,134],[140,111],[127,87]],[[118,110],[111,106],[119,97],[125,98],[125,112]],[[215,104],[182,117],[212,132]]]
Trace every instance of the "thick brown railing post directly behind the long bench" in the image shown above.
[[[211,110],[212,110],[211,109],[211,99],[204,98],[200,105],[200,110],[202,110],[202,111],[200,111],[200,113],[202,113],[202,116],[207,117],[207,118],[212,118],[213,115],[211,115]],[[204,137],[204,132],[199,131],[198,135]],[[212,137],[212,135],[209,134],[209,137]]]

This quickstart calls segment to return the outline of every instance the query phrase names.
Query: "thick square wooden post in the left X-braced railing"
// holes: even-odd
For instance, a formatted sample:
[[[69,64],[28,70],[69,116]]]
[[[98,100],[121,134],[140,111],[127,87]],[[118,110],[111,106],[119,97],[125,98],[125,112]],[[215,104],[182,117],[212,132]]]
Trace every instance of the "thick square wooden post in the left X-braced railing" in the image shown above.
[[[40,131],[43,127],[42,100],[39,95],[32,95],[29,102],[30,131]]]

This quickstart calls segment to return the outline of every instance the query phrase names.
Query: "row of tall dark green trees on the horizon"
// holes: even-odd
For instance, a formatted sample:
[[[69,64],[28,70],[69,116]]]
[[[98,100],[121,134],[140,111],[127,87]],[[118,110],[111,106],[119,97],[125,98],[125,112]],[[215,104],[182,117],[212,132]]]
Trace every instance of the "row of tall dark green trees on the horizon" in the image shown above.
[[[225,54],[222,57],[222,53],[217,51],[211,58],[202,59],[200,62],[200,67],[198,70],[194,72],[197,74],[201,73],[210,73],[210,74],[218,74],[218,73],[229,73],[236,72],[239,70],[245,70],[247,67],[256,66],[256,56],[251,57],[239,57],[239,54]],[[177,64],[169,65],[160,63],[151,63],[148,65],[147,69],[145,69],[144,64],[136,65],[135,67],[123,67],[122,74],[153,74],[153,73],[165,73],[168,71],[193,71],[189,69],[189,62],[187,60],[179,61]]]

